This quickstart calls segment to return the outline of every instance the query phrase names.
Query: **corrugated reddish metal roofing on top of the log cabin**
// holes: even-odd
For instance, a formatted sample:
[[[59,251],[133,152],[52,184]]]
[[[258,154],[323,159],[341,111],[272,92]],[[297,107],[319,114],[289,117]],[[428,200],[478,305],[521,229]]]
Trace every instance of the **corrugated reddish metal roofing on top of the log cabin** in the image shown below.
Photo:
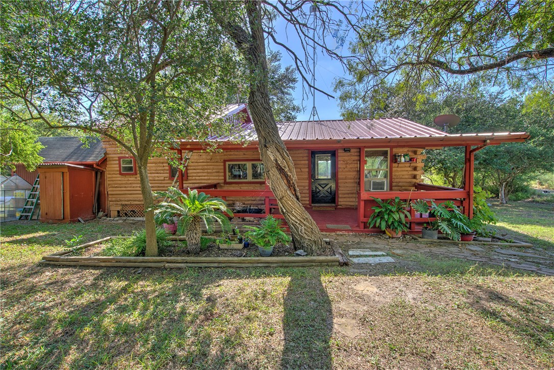
[[[277,126],[279,135],[283,140],[436,138],[449,136],[443,131],[404,118],[286,121],[278,122]],[[241,128],[242,134],[247,139],[257,139],[254,124],[243,124]],[[209,140],[227,141],[238,138],[239,135],[231,138],[214,135]]]

